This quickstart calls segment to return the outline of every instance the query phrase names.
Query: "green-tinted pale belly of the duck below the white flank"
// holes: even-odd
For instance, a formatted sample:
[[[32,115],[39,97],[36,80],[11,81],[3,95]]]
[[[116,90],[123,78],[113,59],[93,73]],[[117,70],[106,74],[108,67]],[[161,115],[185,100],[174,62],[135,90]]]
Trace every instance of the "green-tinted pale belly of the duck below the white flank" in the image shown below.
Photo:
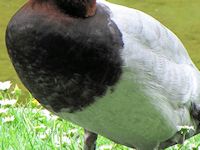
[[[118,143],[155,147],[175,134],[177,115],[165,102],[156,105],[157,100],[150,99],[129,77],[123,74],[113,92],[108,91],[87,108],[74,113],[61,109],[56,114]]]

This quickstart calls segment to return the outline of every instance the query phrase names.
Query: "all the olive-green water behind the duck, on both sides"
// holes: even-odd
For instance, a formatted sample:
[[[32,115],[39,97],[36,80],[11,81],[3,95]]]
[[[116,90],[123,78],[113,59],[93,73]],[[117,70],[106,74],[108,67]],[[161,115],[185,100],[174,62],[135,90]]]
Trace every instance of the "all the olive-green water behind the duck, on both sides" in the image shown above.
[[[200,1],[199,0],[110,0],[142,10],[170,28],[182,40],[200,68]],[[11,80],[23,87],[7,55],[5,29],[11,16],[25,0],[0,0],[0,81]],[[16,41],[17,42],[17,41]]]

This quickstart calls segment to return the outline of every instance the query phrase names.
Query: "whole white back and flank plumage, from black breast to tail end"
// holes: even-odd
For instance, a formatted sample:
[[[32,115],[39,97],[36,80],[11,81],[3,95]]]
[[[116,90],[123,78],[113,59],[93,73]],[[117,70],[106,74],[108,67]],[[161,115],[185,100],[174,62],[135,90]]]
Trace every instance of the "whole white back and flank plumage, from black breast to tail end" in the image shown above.
[[[149,87],[147,93],[160,94],[168,101],[183,103],[197,98],[199,71],[175,34],[139,10],[102,0],[100,3],[108,7],[122,33],[122,57],[127,68],[133,70],[134,81],[142,81]]]

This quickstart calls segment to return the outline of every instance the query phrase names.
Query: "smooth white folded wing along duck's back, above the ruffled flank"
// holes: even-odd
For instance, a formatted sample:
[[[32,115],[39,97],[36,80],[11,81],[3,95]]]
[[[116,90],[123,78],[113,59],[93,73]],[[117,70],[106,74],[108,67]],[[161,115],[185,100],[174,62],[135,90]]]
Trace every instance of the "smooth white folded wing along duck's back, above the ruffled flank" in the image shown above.
[[[123,33],[127,49],[135,44],[130,42],[137,41],[140,46],[174,63],[195,67],[181,41],[159,21],[139,10],[104,0],[99,0],[99,3],[105,4],[110,9],[112,19]]]

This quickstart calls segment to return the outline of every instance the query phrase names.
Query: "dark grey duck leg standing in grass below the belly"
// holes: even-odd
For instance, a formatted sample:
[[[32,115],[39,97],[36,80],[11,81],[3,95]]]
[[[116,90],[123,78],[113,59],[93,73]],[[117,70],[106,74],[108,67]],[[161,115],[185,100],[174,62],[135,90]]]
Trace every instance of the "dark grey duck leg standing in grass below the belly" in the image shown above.
[[[97,134],[84,129],[84,150],[95,150]]]

